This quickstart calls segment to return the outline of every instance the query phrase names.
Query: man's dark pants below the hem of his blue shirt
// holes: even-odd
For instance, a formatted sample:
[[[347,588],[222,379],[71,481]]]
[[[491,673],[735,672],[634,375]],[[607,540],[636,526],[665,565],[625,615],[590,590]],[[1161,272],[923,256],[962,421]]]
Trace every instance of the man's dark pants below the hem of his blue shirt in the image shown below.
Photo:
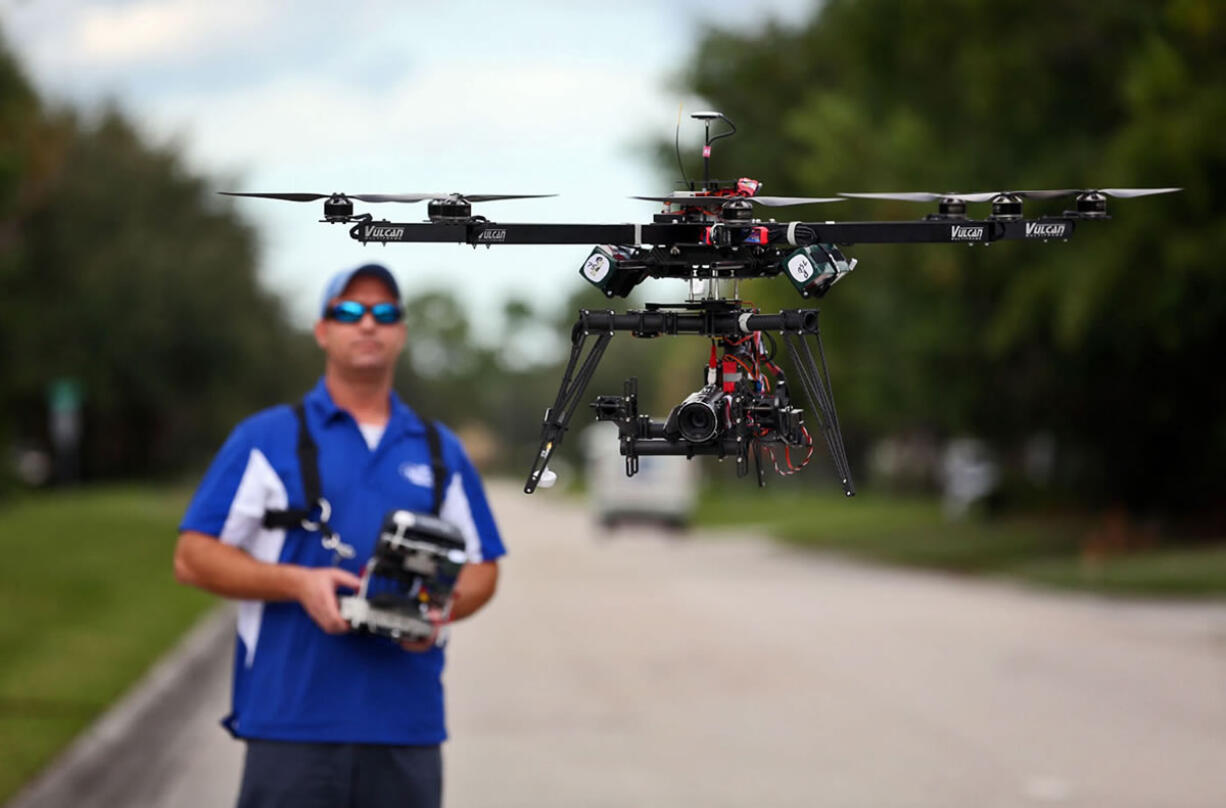
[[[439,747],[248,741],[238,808],[439,808]]]

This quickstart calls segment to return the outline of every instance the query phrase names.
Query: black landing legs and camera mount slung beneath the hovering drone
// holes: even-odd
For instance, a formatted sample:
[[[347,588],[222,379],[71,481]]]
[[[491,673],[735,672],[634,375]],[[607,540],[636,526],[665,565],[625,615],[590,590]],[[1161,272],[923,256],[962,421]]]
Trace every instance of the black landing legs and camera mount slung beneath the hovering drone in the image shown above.
[[[792,309],[779,314],[755,314],[731,300],[707,300],[689,304],[682,310],[660,307],[625,314],[581,310],[579,320],[571,330],[570,360],[563,373],[558,396],[554,405],[544,414],[541,428],[541,450],[524,486],[525,493],[531,494],[541,483],[549,459],[566,433],[575,407],[604,356],[609,341],[618,331],[629,331],[635,337],[693,333],[739,341],[744,341],[748,335],[756,332],[779,331],[787,346],[796,373],[801,378],[801,386],[808,398],[809,408],[821,428],[843,492],[848,497],[855,495],[856,489],[851,479],[842,432],[839,427],[834,392],[830,387],[830,374],[826,368],[825,353],[821,349],[818,311],[815,309]],[[812,336],[817,342],[820,369],[805,338],[808,336]],[[595,343],[588,347],[590,337],[595,337]],[[727,401],[720,405],[720,412],[725,412],[722,407],[727,408],[728,428],[722,433],[712,432],[710,436],[702,439],[684,435],[684,428],[680,429],[683,434],[679,436],[673,417],[669,418],[669,423],[664,423],[652,421],[649,416],[640,416],[638,413],[638,383],[635,379],[626,381],[625,395],[601,396],[592,406],[597,411],[597,419],[618,423],[628,476],[634,476],[638,471],[640,456],[660,455],[736,456],[737,475],[745,476],[749,473],[749,455],[753,454],[758,482],[764,484],[760,457],[764,445],[797,446],[799,445],[797,435],[804,433],[799,411],[787,406],[782,379],[779,386],[780,390],[774,394],[774,406],[770,406],[763,403],[761,395],[745,395],[743,386],[736,391],[731,385],[725,386],[723,390],[728,395],[721,396],[718,385],[709,384],[704,391],[710,389],[711,394],[718,396],[721,401],[727,397]],[[699,391],[694,396],[701,396],[704,391]],[[695,405],[702,406],[701,402],[695,402]],[[680,410],[682,407],[678,408],[678,411]],[[765,422],[761,419],[764,410],[766,410]],[[674,414],[678,411],[674,411]],[[711,412],[715,413],[715,410]],[[715,423],[716,416],[712,414],[711,418]],[[770,423],[771,421],[774,423]],[[764,427],[764,423],[769,423],[769,427]],[[807,433],[804,434],[807,436]],[[809,445],[812,446],[812,443]]]

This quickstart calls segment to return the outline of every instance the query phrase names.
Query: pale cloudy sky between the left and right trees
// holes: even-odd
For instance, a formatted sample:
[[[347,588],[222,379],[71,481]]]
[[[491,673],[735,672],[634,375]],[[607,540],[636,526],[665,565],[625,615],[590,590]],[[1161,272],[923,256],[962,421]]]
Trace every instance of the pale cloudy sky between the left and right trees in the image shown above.
[[[646,145],[668,139],[706,26],[799,23],[813,0],[394,2],[0,0],[0,27],[44,98],[118,104],[217,190],[558,194],[490,202],[494,221],[650,221],[673,189]],[[683,148],[701,128],[683,124]],[[716,158],[717,159],[717,158]],[[408,294],[447,288],[497,341],[504,302],[553,311],[585,246],[370,245],[318,223],[321,202],[237,202],[260,277],[294,321],[340,269],[378,260]],[[418,205],[358,206],[419,221]],[[666,297],[683,293],[680,281]],[[660,293],[657,293],[660,294]]]

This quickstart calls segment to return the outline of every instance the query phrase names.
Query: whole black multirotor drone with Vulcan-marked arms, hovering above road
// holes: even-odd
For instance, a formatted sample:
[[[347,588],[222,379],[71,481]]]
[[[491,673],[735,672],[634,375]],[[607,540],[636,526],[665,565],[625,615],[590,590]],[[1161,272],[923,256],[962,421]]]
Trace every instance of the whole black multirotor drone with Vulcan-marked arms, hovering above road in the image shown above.
[[[592,402],[598,421],[618,425],[626,475],[633,476],[638,471],[639,457],[644,455],[736,457],[738,476],[749,473],[749,460],[753,457],[759,484],[764,484],[763,452],[769,455],[780,473],[799,471],[813,454],[814,438],[804,423],[804,412],[792,403],[783,370],[775,363],[777,343],[772,333],[779,332],[843,492],[851,497],[856,489],[821,351],[818,310],[758,311],[739,299],[737,286],[742,278],[786,275],[801,297],[820,298],[856,267],[856,260],[848,260],[839,245],[1067,240],[1078,222],[1108,218],[1108,196],[1128,199],[1181,190],[1101,188],[763,196],[758,192],[761,189],[758,180],[720,181],[710,177],[711,145],[736,132],[732,121],[717,112],[693,113],[691,118],[702,121],[705,128],[702,180],[687,180],[687,190],[664,196],[634,197],[663,202],[663,211],[656,213],[650,223],[500,223],[472,212],[476,202],[544,196],[539,194],[229,195],[295,202],[324,200],[321,221],[352,224],[349,235],[363,244],[597,244],[580,267],[580,275],[609,298],[625,297],[649,277],[689,282],[689,299],[684,303],[649,303],[644,309],[624,314],[588,309],[579,313],[571,331],[570,360],[554,403],[546,410],[541,449],[524,487],[526,493],[531,494],[538,484],[550,484],[549,459],[562,443],[587,383],[618,331],[629,331],[635,337],[688,333],[711,340],[704,386],[677,405],[666,419],[655,421],[639,413],[635,379],[626,380],[620,396],[598,396]],[[716,121],[726,126],[725,131],[712,137],[711,125]],[[1074,210],[1037,218],[1022,215],[1022,200],[1067,196],[1075,197]],[[918,221],[779,222],[758,217],[758,207],[840,202],[845,197],[937,202],[937,212]],[[354,213],[354,201],[425,201],[428,221],[375,219],[370,213]],[[992,212],[983,218],[970,218],[966,206],[977,202],[991,202]],[[723,297],[721,282],[732,282],[731,297]]]

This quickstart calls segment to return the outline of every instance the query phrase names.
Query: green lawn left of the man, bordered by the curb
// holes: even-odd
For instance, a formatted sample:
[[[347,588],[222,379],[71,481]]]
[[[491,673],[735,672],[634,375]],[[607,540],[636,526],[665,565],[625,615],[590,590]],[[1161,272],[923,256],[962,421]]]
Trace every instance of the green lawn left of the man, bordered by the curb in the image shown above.
[[[0,503],[0,803],[212,603],[172,575],[185,504],[140,487]]]

